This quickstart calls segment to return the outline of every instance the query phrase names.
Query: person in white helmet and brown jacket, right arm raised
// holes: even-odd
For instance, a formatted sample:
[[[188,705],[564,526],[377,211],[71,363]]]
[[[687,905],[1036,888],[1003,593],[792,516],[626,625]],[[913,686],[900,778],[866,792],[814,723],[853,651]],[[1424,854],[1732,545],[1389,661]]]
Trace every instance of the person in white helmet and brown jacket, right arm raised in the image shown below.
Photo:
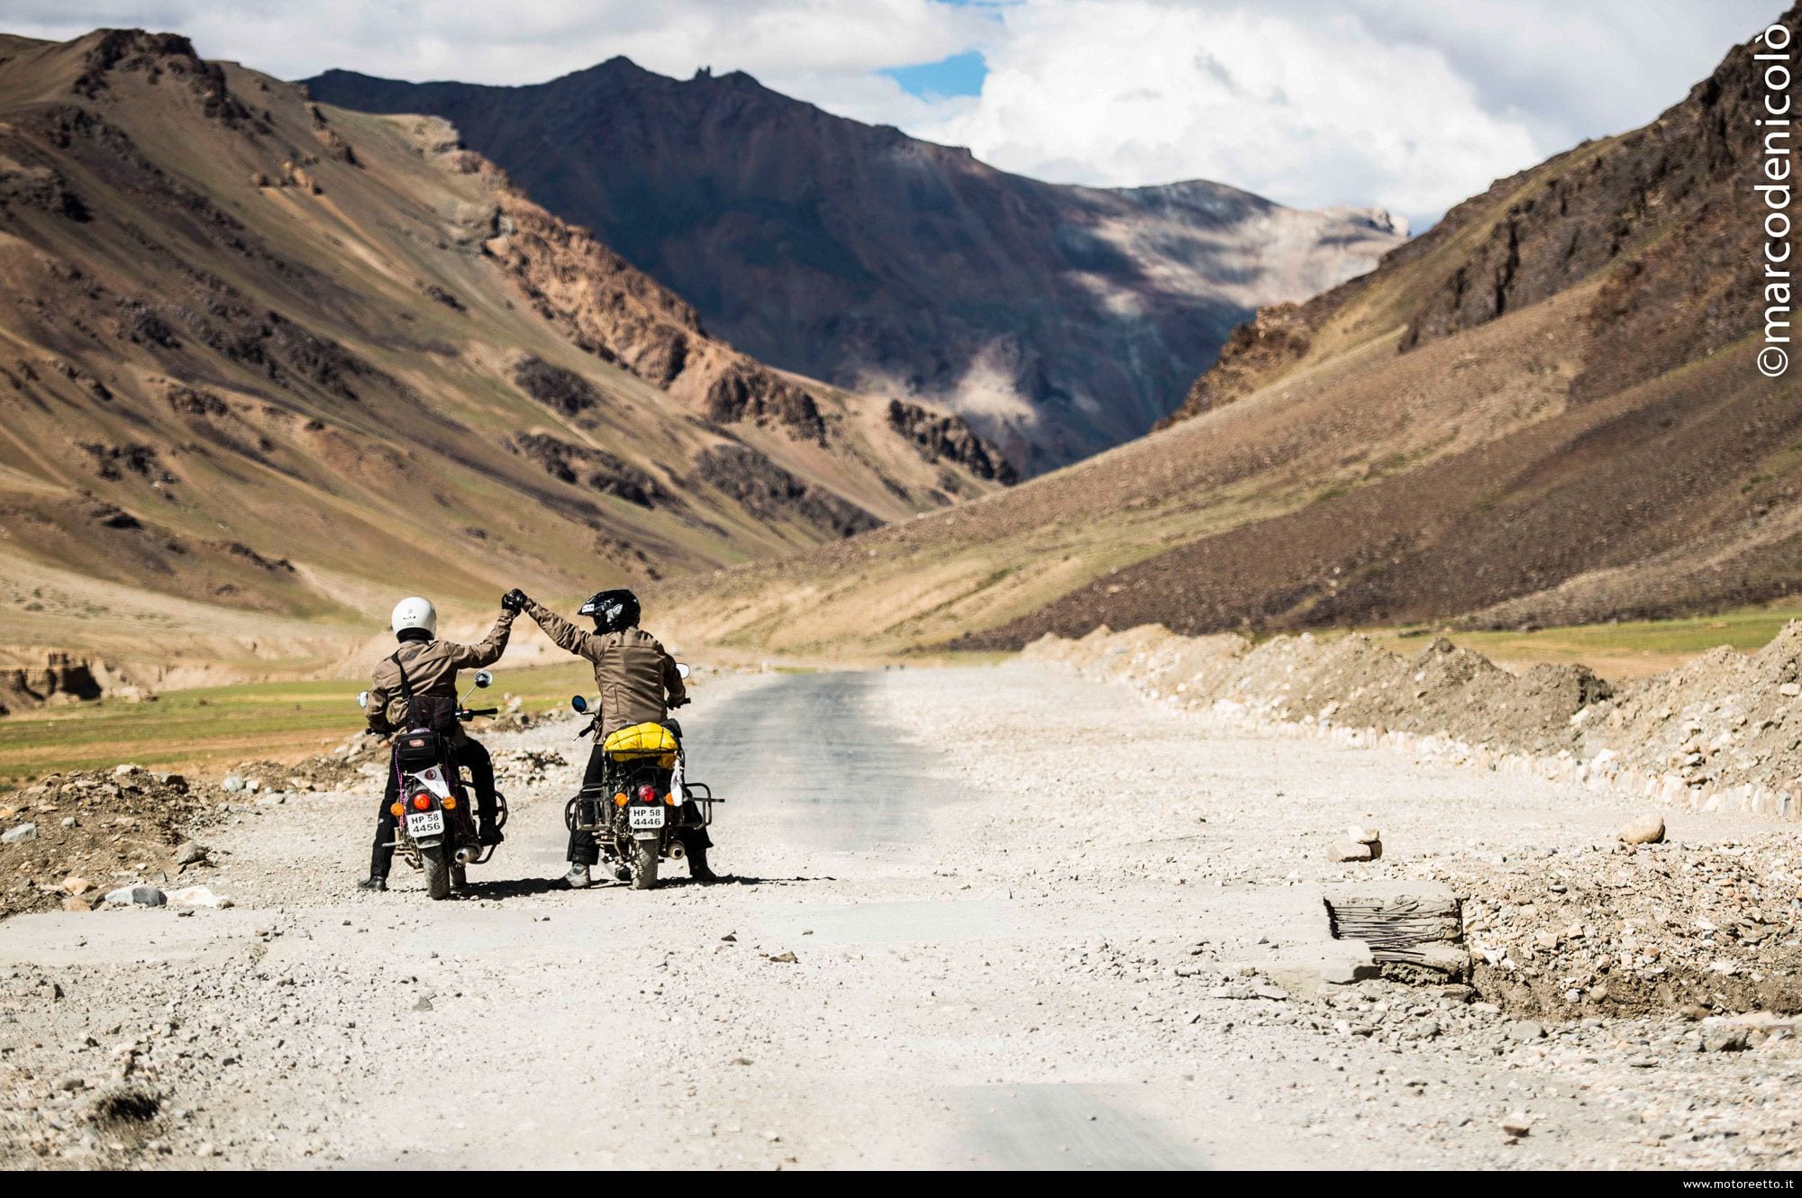
[[[405,598],[395,605],[391,627],[400,647],[375,667],[369,681],[369,731],[387,737],[395,731],[431,728],[449,742],[450,764],[469,769],[476,791],[478,840],[499,845],[496,827],[494,760],[479,740],[463,731],[458,712],[458,670],[476,670],[494,665],[506,652],[506,638],[514,629],[517,605],[501,600],[501,618],[487,640],[478,645],[458,645],[438,640],[438,613],[422,598]],[[357,883],[364,890],[387,890],[387,870],[395,861],[393,803],[400,798],[400,773],[389,762],[387,789],[382,794],[380,818],[375,823],[375,847],[369,850],[369,877]]]

